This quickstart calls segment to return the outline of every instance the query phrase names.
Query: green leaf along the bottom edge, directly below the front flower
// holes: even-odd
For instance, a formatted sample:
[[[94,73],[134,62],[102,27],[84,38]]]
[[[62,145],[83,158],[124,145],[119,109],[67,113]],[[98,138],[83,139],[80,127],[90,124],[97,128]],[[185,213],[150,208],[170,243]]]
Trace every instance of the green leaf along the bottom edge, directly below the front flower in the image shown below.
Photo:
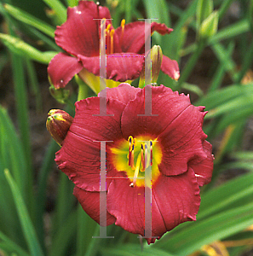
[[[141,244],[128,244],[120,247],[102,248],[101,254],[104,256],[173,256],[173,254],[150,246],[141,249]]]

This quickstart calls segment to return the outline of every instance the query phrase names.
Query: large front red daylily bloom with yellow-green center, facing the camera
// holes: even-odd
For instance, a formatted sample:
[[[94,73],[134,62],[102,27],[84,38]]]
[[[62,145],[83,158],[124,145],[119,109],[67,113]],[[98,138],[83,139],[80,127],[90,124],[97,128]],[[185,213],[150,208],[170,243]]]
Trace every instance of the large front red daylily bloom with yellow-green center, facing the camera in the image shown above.
[[[84,211],[100,222],[101,146],[95,141],[112,141],[106,143],[107,225],[144,236],[141,177],[147,159],[152,165],[152,236],[195,220],[198,187],[210,183],[213,170],[212,146],[202,130],[204,107],[194,107],[188,96],[164,85],[152,87],[153,116],[138,115],[145,113],[145,88],[120,84],[106,95],[108,116],[95,115],[100,113],[99,97],[76,102],[76,115],[56,153]],[[152,143],[152,156],[143,141]]]

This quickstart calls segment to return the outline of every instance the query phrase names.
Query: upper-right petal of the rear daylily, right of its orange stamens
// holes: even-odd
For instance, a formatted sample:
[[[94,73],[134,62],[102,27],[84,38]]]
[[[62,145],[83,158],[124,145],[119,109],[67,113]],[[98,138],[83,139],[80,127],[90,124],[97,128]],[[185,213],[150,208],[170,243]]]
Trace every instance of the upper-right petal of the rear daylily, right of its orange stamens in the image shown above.
[[[160,34],[169,34],[173,29],[165,26],[164,24],[159,24],[157,22],[151,23],[151,33],[159,32]],[[133,52],[133,53],[144,53],[145,45],[145,22],[135,21],[124,26],[124,36],[121,39],[122,28],[118,27],[115,30],[115,44],[116,49],[118,45],[121,46],[123,52]]]

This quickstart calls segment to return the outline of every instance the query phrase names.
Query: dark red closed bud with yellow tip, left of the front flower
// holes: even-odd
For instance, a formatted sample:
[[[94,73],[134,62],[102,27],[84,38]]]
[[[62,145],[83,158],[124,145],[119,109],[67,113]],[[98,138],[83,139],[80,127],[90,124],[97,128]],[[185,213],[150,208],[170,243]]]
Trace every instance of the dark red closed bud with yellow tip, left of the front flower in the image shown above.
[[[66,133],[72,125],[71,115],[60,109],[51,109],[48,113],[47,129],[56,143],[62,145]]]

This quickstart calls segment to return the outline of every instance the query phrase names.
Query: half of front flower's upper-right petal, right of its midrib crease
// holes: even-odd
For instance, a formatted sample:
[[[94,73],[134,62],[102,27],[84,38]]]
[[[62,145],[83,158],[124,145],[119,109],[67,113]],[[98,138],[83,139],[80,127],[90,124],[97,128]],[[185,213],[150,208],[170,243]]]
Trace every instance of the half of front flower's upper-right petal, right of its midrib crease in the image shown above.
[[[190,160],[204,160],[203,143],[206,135],[202,130],[203,107],[188,106],[158,136],[163,147],[163,159],[159,165],[164,175],[178,175],[187,172]]]

